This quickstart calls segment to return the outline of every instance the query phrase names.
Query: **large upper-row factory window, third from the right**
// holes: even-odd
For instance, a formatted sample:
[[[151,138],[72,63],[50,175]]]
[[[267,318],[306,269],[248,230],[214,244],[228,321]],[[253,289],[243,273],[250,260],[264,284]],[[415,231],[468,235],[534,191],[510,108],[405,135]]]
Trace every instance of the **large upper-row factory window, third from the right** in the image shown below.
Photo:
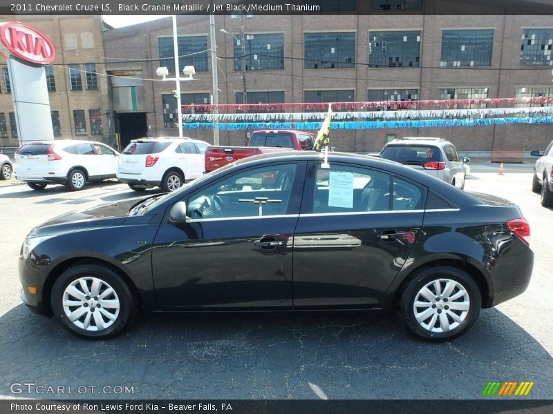
[[[368,66],[420,66],[420,30],[370,32],[368,37]]]

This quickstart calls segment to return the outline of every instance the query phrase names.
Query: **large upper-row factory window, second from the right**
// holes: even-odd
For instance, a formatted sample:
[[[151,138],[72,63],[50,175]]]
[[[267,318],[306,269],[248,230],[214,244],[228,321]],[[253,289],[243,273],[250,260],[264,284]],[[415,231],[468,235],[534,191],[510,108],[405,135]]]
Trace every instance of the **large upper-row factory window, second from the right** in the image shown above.
[[[494,29],[443,30],[440,66],[491,66]]]

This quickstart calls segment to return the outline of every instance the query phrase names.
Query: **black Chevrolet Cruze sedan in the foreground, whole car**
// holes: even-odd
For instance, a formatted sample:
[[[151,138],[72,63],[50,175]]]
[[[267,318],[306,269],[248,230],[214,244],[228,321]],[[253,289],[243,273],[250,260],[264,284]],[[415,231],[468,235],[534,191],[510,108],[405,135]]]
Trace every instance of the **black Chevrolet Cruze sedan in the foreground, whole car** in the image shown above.
[[[510,201],[393,161],[260,155],[167,195],[62,215],[21,248],[26,305],[104,339],[165,311],[398,311],[445,340],[523,293],[534,254]]]

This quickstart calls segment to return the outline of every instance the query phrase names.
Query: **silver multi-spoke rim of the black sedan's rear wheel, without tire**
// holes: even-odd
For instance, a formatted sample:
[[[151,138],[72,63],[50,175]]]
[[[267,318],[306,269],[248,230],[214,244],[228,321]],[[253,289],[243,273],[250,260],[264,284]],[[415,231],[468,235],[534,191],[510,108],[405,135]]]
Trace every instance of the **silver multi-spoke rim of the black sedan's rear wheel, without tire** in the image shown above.
[[[435,279],[415,295],[413,316],[425,330],[446,333],[467,318],[471,306],[469,293],[452,279]]]

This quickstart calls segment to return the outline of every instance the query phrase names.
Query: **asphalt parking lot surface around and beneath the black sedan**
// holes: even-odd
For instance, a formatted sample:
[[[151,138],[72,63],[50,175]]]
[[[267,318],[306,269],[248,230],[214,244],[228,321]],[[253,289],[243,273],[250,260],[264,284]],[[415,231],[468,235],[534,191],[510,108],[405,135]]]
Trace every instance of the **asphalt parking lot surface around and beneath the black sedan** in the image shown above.
[[[476,399],[489,381],[533,381],[528,398],[551,399],[553,210],[530,191],[531,165],[505,166],[503,176],[497,164],[471,168],[466,190],[521,206],[532,228],[534,274],[523,295],[482,311],[471,331],[444,344],[415,339],[393,316],[352,314],[148,317],[116,339],[77,339],[21,304],[21,242],[50,217],[137,193],[117,181],[75,193],[4,182],[0,398]],[[13,386],[25,383],[35,385]],[[77,392],[39,393],[37,386]]]

